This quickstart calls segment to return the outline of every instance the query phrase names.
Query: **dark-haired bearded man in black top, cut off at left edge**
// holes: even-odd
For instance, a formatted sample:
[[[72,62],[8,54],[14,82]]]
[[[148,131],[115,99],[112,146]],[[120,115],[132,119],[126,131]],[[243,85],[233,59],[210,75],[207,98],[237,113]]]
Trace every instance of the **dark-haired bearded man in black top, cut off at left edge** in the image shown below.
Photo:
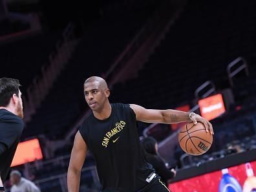
[[[23,105],[19,81],[0,79],[0,191],[23,131]]]

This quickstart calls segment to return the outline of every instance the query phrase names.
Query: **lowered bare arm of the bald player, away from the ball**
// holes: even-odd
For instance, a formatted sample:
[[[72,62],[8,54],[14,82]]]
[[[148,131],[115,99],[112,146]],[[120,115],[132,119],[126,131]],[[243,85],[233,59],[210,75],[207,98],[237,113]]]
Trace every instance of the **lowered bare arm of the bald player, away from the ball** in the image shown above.
[[[67,186],[69,192],[79,191],[81,168],[83,167],[83,162],[85,162],[86,154],[87,145],[78,131],[74,139],[67,173]]]

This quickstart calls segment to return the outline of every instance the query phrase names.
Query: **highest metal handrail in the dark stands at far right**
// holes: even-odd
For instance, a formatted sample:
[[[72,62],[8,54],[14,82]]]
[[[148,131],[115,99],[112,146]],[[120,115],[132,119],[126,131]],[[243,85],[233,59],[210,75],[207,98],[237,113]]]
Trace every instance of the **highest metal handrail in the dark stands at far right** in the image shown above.
[[[234,67],[235,65],[239,64],[240,61],[242,61],[242,65],[240,65],[237,69],[233,70],[231,72],[231,68]],[[241,70],[245,69],[246,76],[249,76],[249,70],[248,70],[248,65],[246,59],[239,57],[235,60],[233,60],[231,63],[228,64],[227,66],[227,72],[228,72],[228,79],[231,87],[234,87],[234,83],[232,78],[236,76]]]

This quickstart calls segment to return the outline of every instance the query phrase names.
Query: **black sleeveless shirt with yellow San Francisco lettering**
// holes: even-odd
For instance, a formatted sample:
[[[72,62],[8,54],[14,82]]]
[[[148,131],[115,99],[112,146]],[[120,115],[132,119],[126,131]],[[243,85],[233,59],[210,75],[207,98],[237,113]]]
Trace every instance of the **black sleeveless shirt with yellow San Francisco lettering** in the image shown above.
[[[98,120],[91,114],[79,131],[96,160],[103,190],[138,191],[147,185],[145,179],[154,169],[140,147],[133,109],[122,103],[111,107],[109,118]]]

